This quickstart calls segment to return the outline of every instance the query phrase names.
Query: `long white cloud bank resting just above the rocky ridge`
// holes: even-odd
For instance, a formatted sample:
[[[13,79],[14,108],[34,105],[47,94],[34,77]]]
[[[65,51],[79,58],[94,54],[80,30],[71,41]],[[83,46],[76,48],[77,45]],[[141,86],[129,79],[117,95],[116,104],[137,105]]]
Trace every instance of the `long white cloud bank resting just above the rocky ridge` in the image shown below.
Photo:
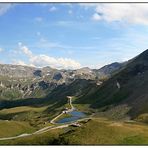
[[[27,56],[29,64],[26,64],[23,61],[15,61],[15,64],[20,65],[29,65],[35,67],[44,67],[44,66],[51,66],[57,69],[77,69],[80,68],[80,63],[72,60],[70,58],[54,58],[44,54],[34,55],[28,47],[19,43],[19,48]]]

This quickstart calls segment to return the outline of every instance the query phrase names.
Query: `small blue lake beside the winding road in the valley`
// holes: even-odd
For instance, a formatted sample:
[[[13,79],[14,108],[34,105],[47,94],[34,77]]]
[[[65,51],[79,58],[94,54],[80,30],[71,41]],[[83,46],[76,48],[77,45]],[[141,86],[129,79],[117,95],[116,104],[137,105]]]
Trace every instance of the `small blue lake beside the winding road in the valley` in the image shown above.
[[[66,122],[76,121],[76,120],[86,116],[84,113],[76,111],[76,110],[70,112],[69,114],[72,115],[72,116],[60,119],[56,123],[66,123]]]

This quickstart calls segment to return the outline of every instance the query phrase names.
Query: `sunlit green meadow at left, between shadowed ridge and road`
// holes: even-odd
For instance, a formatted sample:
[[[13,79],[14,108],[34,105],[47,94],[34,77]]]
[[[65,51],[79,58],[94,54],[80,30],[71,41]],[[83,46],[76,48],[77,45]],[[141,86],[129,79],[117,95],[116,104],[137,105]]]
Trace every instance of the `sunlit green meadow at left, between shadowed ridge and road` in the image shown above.
[[[43,114],[47,107],[21,106],[0,111],[0,118],[3,120],[25,121],[34,127],[43,127],[48,121],[48,115]]]

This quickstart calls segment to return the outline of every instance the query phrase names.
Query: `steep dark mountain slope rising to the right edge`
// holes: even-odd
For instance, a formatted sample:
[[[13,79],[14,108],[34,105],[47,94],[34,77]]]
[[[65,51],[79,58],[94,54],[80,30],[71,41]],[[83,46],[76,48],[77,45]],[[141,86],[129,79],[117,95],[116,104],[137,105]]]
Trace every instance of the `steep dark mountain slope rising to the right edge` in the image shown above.
[[[91,108],[119,114],[127,110],[132,118],[148,113],[148,50],[132,59],[118,73],[75,103],[90,104]],[[122,109],[121,109],[122,108]],[[121,109],[121,110],[120,110]],[[119,111],[120,110],[120,111]],[[108,114],[109,114],[108,111]]]

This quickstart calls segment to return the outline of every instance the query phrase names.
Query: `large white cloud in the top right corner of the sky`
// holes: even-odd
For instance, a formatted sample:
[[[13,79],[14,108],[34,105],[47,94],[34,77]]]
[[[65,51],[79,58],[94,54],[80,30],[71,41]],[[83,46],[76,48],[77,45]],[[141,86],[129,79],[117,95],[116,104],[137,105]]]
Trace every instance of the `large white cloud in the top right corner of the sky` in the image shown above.
[[[80,6],[85,9],[94,9],[95,12],[92,19],[95,21],[119,21],[131,24],[148,25],[148,4],[145,3],[83,3],[80,4]]]

